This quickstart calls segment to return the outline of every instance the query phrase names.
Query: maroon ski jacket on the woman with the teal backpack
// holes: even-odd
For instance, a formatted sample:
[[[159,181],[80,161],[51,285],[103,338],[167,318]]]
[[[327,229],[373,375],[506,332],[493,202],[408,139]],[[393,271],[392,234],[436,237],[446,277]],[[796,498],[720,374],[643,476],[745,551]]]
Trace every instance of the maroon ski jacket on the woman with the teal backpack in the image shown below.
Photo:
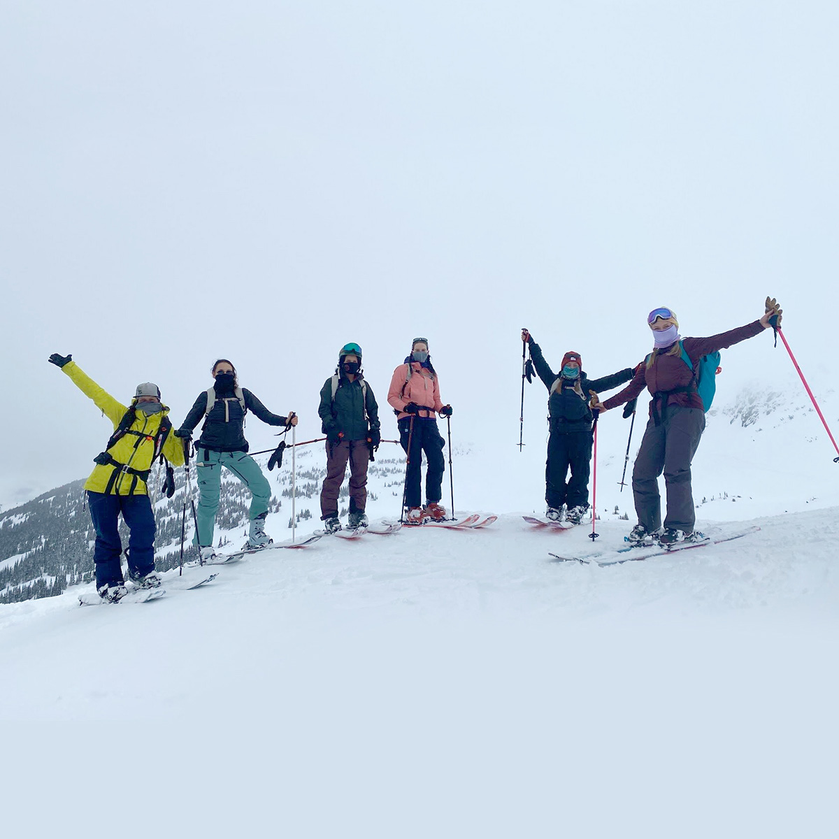
[[[721,332],[719,335],[712,335],[709,338],[682,338],[682,346],[685,347],[685,352],[688,354],[690,362],[693,363],[693,369],[696,370],[702,356],[706,356],[709,352],[717,352],[717,350],[731,347],[732,344],[738,344],[747,338],[753,338],[761,332],[763,332],[763,326],[761,326],[760,320],[755,320],[746,326],[738,326],[737,329]],[[638,396],[646,386],[653,397],[656,393],[663,393],[675,388],[690,388],[689,391],[670,393],[670,396],[667,397],[667,404],[679,405],[682,408],[702,409],[702,400],[699,393],[696,393],[695,386],[691,387],[694,377],[693,370],[690,370],[690,367],[681,360],[680,356],[666,355],[669,349],[670,347],[665,347],[663,350],[659,350],[649,368],[646,362],[641,362],[633,380],[620,393],[615,393],[614,396],[603,402],[603,407],[606,409],[617,408],[618,405],[623,405]],[[650,415],[653,414],[655,401],[655,399],[652,399],[649,403]]]

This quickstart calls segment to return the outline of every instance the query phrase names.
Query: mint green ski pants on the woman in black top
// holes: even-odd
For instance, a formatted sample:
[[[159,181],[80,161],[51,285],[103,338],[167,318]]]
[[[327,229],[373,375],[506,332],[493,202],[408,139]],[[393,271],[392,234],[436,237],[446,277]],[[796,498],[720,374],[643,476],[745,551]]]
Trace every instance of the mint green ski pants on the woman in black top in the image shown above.
[[[271,485],[257,461],[244,451],[212,451],[203,446],[195,448],[195,474],[201,498],[198,501],[198,533],[193,545],[206,548],[212,545],[216,527],[216,510],[221,492],[221,467],[229,469],[251,491],[251,508],[248,518],[258,519],[268,510]]]

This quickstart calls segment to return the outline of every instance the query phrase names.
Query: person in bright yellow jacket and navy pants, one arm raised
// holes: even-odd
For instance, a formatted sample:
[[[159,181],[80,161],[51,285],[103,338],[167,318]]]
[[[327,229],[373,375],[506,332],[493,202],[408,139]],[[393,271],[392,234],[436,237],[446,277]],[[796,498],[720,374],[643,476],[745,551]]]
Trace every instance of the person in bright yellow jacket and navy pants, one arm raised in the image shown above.
[[[83,373],[72,356],[54,352],[50,362],[60,367],[113,423],[111,439],[105,451],[94,458],[96,466],[85,483],[96,529],[96,591],[110,602],[117,602],[128,591],[120,561],[120,513],[131,532],[125,552],[128,579],[140,588],[156,588],[160,576],[154,571],[154,511],[146,485],[152,464],[159,456],[175,466],[184,463],[183,446],[170,433],[169,409],[161,403],[159,388],[151,382],[138,384],[131,404],[126,406]]]

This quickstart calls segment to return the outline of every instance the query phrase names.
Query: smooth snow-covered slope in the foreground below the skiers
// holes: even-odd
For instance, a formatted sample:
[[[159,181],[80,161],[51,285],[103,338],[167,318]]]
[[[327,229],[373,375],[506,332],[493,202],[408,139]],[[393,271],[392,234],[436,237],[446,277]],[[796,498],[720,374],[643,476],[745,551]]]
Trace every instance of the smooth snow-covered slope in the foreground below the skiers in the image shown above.
[[[548,559],[593,550],[586,527],[510,513],[254,555],[143,605],[11,604],[0,719],[70,724],[91,775],[177,767],[164,835],[827,835],[836,513],[612,568]]]

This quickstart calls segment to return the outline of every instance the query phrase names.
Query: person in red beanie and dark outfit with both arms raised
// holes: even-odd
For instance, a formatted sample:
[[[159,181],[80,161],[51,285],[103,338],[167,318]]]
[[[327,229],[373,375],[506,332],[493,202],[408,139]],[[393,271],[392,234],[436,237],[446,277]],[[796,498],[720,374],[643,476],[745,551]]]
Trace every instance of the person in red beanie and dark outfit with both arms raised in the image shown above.
[[[578,352],[566,352],[560,373],[554,373],[533,336],[522,330],[533,359],[536,373],[550,392],[548,414],[550,437],[548,461],[545,465],[545,517],[550,521],[565,520],[580,524],[588,509],[588,479],[591,473],[591,440],[593,415],[588,407],[589,391],[612,390],[633,378],[633,368],[627,367],[594,380],[582,370]],[[571,478],[565,482],[568,471]]]

